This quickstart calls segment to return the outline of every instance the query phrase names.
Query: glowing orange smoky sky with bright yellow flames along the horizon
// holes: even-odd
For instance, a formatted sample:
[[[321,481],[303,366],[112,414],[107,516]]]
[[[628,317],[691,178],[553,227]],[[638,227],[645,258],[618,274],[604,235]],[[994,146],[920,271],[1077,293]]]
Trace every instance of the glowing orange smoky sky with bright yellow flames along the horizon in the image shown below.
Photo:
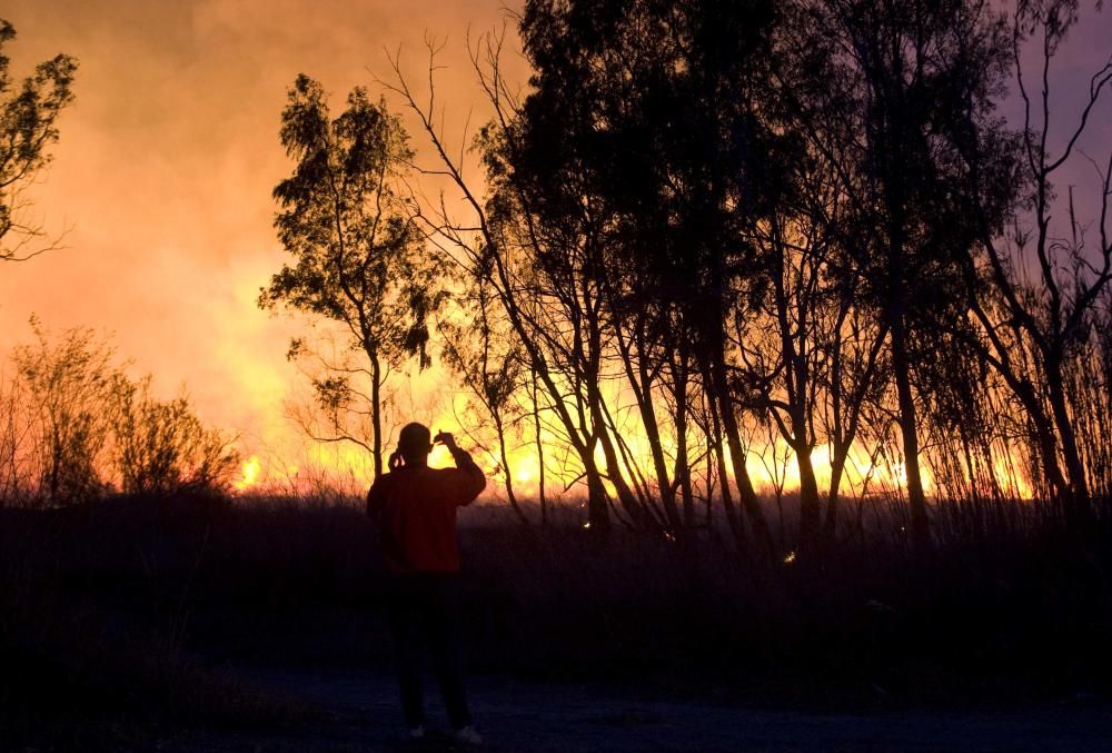
[[[238,492],[301,493],[324,476],[344,488],[365,488],[374,470],[364,449],[307,443],[286,416],[285,404],[305,379],[285,354],[290,337],[305,333],[305,321],[269,316],[255,303],[286,258],[275,237],[271,199],[290,167],[277,136],[286,89],[305,71],[338,103],[353,86],[373,86],[367,68],[385,73],[380,50],[399,44],[403,67],[424,80],[424,30],[450,34],[439,60],[445,69],[438,111],[447,113],[445,132],[458,133],[466,145],[468,112],[474,108],[473,127],[488,112],[464,30],[473,29],[474,37],[500,27],[505,4],[10,0],[3,14],[19,31],[12,48],[16,70],[58,51],[79,58],[81,69],[77,102],[59,123],[51,170],[34,191],[48,229],[72,229],[64,249],[32,264],[4,266],[0,351],[28,339],[31,313],[56,330],[87,325],[112,331],[119,351],[133,358],[137,369],[156,375],[163,397],[185,384],[201,418],[239,433],[247,459],[234,482]],[[526,80],[518,56],[506,55],[503,66],[509,80]],[[406,122],[414,146],[425,149],[417,125]],[[474,162],[468,167],[474,169]],[[430,402],[449,403],[401,405],[434,429],[455,432],[461,445],[478,446],[476,459],[488,474],[499,466],[489,433],[479,430],[473,440],[461,430],[465,398],[443,369],[408,383],[403,376],[398,385],[399,394],[408,387],[433,396]],[[618,419],[629,453],[651,475],[646,438],[635,420]],[[515,491],[524,497],[537,494],[540,476],[529,430],[509,448]],[[564,453],[550,435],[543,440],[547,492],[555,496],[577,472],[556,467]],[[665,438],[665,450],[674,452],[674,444]],[[784,463],[784,450],[778,439],[751,447],[746,467],[759,492],[773,489],[770,468]],[[793,493],[798,467],[790,453],[786,457],[786,467],[775,475]],[[600,449],[597,459],[604,460]],[[449,462],[443,448],[430,457],[433,465]],[[812,462],[823,491],[830,483],[828,449],[817,447]],[[993,467],[1020,496],[1033,494],[1017,470],[1022,463],[1000,455]],[[931,494],[935,484],[929,468],[923,476]],[[902,464],[874,462],[867,448],[855,447],[842,488],[884,492],[905,482]],[[500,483],[496,478],[488,488],[500,493]]]

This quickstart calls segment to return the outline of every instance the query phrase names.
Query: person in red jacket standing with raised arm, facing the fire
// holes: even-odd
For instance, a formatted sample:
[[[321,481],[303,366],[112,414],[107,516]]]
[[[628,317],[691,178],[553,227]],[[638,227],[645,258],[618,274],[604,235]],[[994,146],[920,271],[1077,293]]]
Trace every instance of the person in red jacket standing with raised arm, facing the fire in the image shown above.
[[[390,632],[409,736],[425,736],[420,665],[427,650],[456,740],[479,744],[464,691],[455,627],[456,508],[474,502],[486,487],[486,478],[450,434],[437,434],[436,443],[451,453],[455,468],[428,467],[433,444],[427,427],[407,424],[401,428],[389,472],[367,492],[367,514],[378,528],[390,573]]]

